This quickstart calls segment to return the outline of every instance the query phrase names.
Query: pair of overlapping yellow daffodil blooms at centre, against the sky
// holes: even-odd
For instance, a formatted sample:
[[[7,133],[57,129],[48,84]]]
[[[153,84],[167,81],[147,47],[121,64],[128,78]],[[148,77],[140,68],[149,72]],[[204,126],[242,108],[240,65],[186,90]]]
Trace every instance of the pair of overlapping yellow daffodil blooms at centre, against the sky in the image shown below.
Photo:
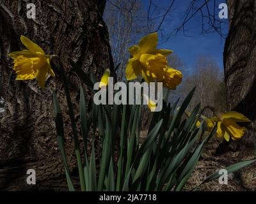
[[[126,66],[127,80],[133,80],[140,75],[146,82],[163,82],[168,89],[176,89],[182,80],[182,73],[170,68],[166,56],[172,50],[157,49],[157,33],[141,38],[138,45],[129,48],[131,59]]]

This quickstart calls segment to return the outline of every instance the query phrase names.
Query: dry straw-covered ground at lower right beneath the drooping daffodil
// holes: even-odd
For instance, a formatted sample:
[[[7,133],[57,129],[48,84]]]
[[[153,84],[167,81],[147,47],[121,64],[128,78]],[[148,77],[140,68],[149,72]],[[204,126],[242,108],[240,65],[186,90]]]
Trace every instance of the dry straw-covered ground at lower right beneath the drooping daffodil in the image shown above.
[[[216,156],[218,142],[215,138],[208,143],[200,161],[184,187],[185,191],[190,191],[198,186],[207,177],[231,164],[254,158],[254,149],[252,147],[241,147],[236,152],[226,152]],[[228,184],[219,184],[218,179],[203,184],[198,187],[198,191],[256,191],[256,163],[246,166],[245,168],[230,173],[228,175]]]

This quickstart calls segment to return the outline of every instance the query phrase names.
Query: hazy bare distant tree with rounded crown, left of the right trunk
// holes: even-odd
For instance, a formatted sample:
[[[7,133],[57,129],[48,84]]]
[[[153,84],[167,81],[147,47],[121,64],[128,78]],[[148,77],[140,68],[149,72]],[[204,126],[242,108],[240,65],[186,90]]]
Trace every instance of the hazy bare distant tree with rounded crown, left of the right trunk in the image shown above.
[[[223,72],[211,56],[200,56],[196,59],[192,73],[184,77],[184,82],[180,85],[180,95],[182,98],[196,86],[196,92],[188,106],[189,112],[200,103],[205,106],[215,106],[218,110],[225,110],[225,95],[223,91]],[[225,90],[225,89],[224,89]],[[206,112],[208,117],[212,117],[211,112]]]

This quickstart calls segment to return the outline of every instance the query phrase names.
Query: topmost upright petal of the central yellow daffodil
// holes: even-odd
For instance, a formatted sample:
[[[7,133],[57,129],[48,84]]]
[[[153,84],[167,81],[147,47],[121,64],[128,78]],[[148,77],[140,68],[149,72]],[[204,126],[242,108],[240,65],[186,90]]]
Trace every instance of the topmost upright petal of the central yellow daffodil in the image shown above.
[[[151,33],[141,38],[139,42],[140,52],[154,52],[154,49],[157,47],[157,38],[157,33]]]

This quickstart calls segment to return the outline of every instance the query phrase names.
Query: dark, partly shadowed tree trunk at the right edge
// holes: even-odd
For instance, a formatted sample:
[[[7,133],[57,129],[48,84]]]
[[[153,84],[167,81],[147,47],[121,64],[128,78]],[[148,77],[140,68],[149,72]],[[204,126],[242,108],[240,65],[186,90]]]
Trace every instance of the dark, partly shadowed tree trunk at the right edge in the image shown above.
[[[255,141],[256,132],[256,1],[227,0],[230,28],[225,43],[224,66],[227,108],[253,122],[244,141]]]

